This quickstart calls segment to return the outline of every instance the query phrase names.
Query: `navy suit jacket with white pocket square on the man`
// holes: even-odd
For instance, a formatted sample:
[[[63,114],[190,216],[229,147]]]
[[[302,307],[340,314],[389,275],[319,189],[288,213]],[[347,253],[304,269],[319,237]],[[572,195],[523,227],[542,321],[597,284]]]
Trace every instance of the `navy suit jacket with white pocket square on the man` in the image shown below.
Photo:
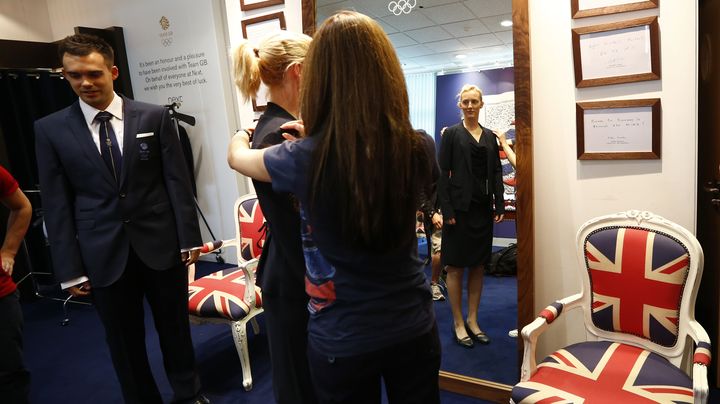
[[[123,115],[119,184],[79,101],[35,122],[45,225],[60,282],[85,275],[94,287],[108,286],[125,270],[131,247],[148,267],[165,270],[181,263],[181,249],[202,244],[167,109],[123,98]]]

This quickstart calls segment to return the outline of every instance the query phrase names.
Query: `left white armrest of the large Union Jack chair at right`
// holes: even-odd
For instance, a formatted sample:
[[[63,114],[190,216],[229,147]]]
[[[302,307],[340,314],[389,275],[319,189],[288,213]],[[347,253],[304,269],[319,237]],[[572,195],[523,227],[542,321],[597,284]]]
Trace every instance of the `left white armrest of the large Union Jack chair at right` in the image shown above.
[[[537,348],[537,339],[545,332],[555,319],[565,310],[571,310],[580,305],[582,293],[578,293],[564,299],[560,299],[555,303],[547,306],[540,311],[538,317],[530,324],[523,327],[521,334],[523,337],[523,363],[520,368],[520,381],[528,381],[530,377],[537,371],[537,360],[535,359],[535,350]]]

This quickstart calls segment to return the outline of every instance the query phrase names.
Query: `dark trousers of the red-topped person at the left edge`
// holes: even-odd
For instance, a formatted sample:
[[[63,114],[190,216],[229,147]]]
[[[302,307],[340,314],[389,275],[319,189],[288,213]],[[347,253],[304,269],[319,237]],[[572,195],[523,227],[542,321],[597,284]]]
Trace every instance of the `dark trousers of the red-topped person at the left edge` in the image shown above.
[[[18,292],[0,298],[0,401],[28,402],[30,373],[23,365],[23,318]]]

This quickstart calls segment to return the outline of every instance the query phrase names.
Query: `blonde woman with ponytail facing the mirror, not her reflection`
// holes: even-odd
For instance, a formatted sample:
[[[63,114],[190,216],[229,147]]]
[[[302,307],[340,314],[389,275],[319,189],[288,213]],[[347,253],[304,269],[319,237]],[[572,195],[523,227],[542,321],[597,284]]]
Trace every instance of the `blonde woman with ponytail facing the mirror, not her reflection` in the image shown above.
[[[267,86],[267,108],[253,132],[253,148],[281,143],[280,125],[300,115],[300,76],[310,37],[280,31],[260,41],[257,48],[243,41],[233,53],[235,84],[245,100]],[[268,182],[253,180],[268,233],[258,264],[263,308],[278,403],[314,403],[307,361],[308,296],[305,259],[300,242],[300,215],[295,198],[274,192]]]

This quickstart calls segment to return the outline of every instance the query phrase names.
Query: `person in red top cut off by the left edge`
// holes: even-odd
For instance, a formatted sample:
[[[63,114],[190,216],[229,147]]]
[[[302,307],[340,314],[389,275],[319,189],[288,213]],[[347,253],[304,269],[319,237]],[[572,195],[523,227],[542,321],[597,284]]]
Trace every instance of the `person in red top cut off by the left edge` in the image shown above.
[[[0,397],[8,404],[28,403],[30,373],[23,362],[23,317],[12,280],[15,255],[30,225],[32,206],[15,178],[0,166],[0,202],[10,209],[0,248]]]

